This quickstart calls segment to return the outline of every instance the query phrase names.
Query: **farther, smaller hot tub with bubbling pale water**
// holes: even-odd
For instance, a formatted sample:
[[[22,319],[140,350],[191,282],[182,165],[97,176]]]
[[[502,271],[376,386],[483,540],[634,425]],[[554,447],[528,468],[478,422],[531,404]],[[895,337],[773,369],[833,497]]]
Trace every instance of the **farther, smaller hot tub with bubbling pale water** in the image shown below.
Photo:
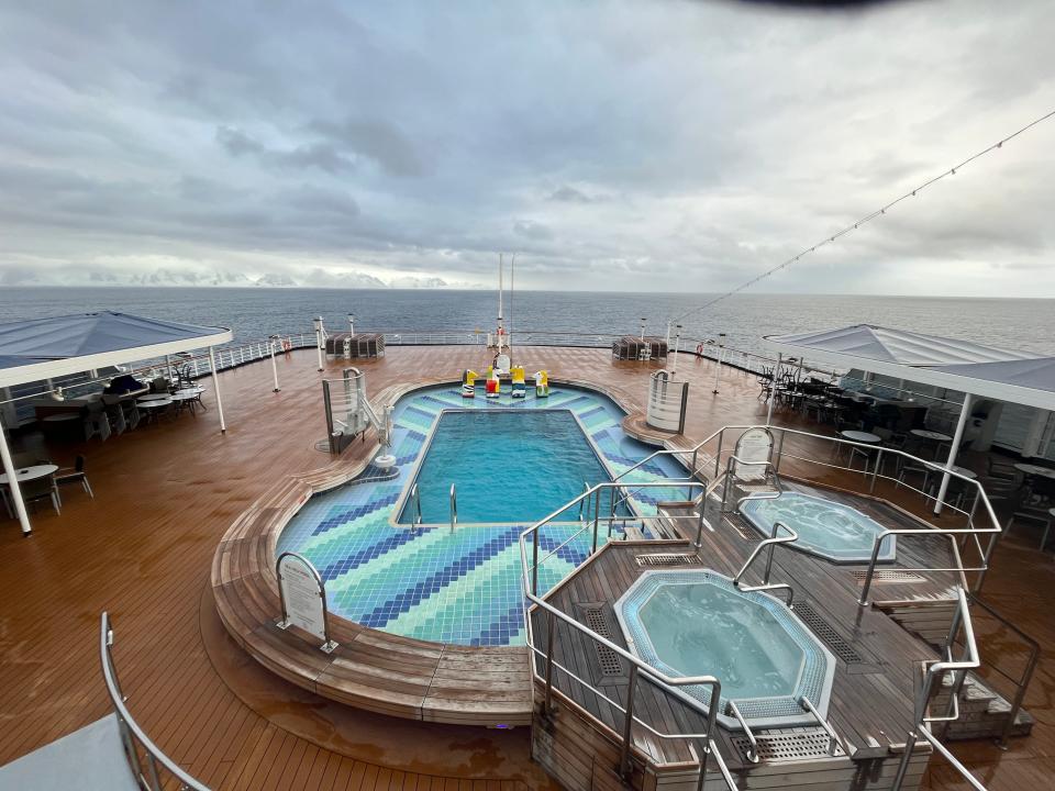
[[[801,492],[748,500],[741,513],[767,538],[774,523],[782,522],[799,534],[798,541],[788,546],[834,562],[867,562],[876,538],[887,530],[849,505]],[[890,536],[882,543],[879,560],[896,558],[896,542],[897,537]]]

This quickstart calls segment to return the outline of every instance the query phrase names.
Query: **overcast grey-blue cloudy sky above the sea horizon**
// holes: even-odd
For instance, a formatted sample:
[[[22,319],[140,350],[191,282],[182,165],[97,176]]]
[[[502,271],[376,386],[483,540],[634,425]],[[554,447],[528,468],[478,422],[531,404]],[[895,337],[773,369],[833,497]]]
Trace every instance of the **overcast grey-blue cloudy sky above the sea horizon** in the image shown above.
[[[0,283],[713,292],[1055,108],[1051,0],[15,2]],[[1055,119],[758,289],[1055,297]]]

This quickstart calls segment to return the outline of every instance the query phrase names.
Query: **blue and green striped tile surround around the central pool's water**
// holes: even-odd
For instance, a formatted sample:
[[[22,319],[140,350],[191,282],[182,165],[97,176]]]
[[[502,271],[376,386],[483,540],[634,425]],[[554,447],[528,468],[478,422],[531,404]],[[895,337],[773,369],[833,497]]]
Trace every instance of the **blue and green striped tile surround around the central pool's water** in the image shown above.
[[[482,388],[480,388],[482,390]],[[567,409],[580,421],[609,471],[617,476],[654,448],[628,437],[624,416],[596,392],[554,387],[549,398],[463,399],[457,387],[419,390],[396,404],[392,454],[399,476],[356,481],[309,500],[282,531],[278,552],[297,552],[319,569],[332,612],[364,625],[409,637],[460,645],[523,645],[524,597],[518,537],[529,525],[393,526],[396,503],[410,479],[429,432],[445,409]],[[628,476],[630,482],[685,478],[669,457]],[[631,498],[637,514],[655,513],[657,500],[684,490],[657,488]],[[548,590],[588,556],[592,534],[578,524],[552,524],[540,543],[538,588]],[[618,536],[613,536],[618,537]],[[607,541],[606,535],[599,543]],[[568,542],[565,546],[560,546]],[[556,550],[556,552],[554,552]],[[553,555],[548,556],[551,553]]]

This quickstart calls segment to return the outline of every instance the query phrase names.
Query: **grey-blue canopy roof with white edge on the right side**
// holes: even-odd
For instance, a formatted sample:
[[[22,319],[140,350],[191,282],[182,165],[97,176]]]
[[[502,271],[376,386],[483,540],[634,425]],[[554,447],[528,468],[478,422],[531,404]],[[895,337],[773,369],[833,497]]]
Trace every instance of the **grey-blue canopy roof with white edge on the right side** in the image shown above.
[[[1055,410],[1055,357],[868,324],[764,339],[812,363]]]

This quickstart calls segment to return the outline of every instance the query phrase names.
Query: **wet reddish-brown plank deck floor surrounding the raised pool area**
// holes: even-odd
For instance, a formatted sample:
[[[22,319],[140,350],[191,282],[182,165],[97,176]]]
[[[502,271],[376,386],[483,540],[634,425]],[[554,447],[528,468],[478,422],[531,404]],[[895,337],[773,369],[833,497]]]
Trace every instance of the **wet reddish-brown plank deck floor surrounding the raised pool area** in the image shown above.
[[[613,363],[606,349],[542,347],[518,354],[555,377],[603,386],[638,408],[655,370]],[[488,357],[480,347],[393,346],[384,359],[357,365],[373,396],[422,377],[479,370]],[[337,376],[341,367],[330,364],[329,376]],[[141,426],[104,444],[16,437],[16,449],[38,450],[57,463],[69,464],[84,453],[96,499],[64,490],[62,515],[38,508],[29,539],[19,535],[15,522],[0,522],[0,764],[108,712],[97,633],[99,613],[109,610],[131,711],[174,759],[213,788],[554,787],[530,760],[526,729],[438,726],[349,709],[277,678],[224,630],[210,586],[222,536],[277,477],[334,464],[315,449],[324,438],[322,375],[315,368],[312,350],[279,359],[280,393],[271,392],[269,365],[222,374],[225,435],[219,433],[209,392],[209,412]],[[684,356],[679,374],[692,382],[688,437],[702,438],[723,424],[764,421],[753,377],[725,369],[721,393],[712,396],[713,364]],[[818,430],[781,412],[776,422]],[[353,445],[336,464],[354,464],[364,447]],[[826,482],[849,479],[833,471]],[[926,516],[911,492],[880,481],[877,493]],[[1025,701],[1037,718],[1033,735],[1013,740],[1007,753],[988,743],[954,746],[998,791],[1042,788],[1055,773],[1052,590],[1055,565],[1035,550],[1029,533],[1001,543],[986,598],[1037,637],[1045,654]],[[984,643],[982,653],[1008,662],[1020,656],[1012,642],[1002,639]],[[937,761],[928,771],[928,784],[965,788]]]

